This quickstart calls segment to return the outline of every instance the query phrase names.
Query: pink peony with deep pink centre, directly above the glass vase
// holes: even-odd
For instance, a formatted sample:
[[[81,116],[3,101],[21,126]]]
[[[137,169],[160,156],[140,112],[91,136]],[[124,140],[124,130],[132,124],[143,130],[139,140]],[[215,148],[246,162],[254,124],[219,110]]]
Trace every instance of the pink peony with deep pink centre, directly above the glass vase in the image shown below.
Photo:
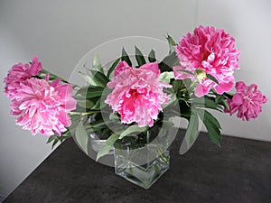
[[[114,88],[107,96],[106,103],[121,115],[121,122],[138,126],[153,126],[162,104],[169,97],[163,88],[171,85],[158,81],[160,69],[157,62],[147,63],[139,69],[129,67],[126,61],[120,61],[115,70],[114,80],[107,83]]]

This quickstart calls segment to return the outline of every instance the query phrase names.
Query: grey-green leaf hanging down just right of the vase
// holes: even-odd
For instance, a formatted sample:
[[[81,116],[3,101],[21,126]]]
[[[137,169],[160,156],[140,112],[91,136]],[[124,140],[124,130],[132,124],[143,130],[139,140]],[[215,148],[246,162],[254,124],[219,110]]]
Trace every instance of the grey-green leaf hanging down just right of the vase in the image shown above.
[[[189,147],[192,146],[192,143],[195,142],[195,140],[198,137],[198,134],[199,134],[199,117],[198,115],[192,113],[184,137]]]

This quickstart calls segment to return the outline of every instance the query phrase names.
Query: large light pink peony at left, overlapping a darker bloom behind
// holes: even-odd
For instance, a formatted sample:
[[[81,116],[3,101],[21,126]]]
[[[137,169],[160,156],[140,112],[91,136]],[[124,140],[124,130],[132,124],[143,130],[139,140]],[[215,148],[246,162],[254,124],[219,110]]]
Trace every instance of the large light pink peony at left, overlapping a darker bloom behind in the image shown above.
[[[75,109],[76,100],[71,97],[72,86],[60,84],[57,79],[48,83],[46,80],[29,78],[16,90],[11,104],[12,115],[19,115],[17,125],[32,134],[53,135],[65,132],[70,126],[68,112]]]

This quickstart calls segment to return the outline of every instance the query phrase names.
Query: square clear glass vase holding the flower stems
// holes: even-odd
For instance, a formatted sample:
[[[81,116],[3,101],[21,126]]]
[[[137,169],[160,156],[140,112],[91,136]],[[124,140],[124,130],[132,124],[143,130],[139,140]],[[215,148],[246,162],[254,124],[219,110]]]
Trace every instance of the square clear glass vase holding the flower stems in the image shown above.
[[[157,145],[131,150],[129,146],[114,150],[115,173],[149,189],[170,167],[170,152]]]

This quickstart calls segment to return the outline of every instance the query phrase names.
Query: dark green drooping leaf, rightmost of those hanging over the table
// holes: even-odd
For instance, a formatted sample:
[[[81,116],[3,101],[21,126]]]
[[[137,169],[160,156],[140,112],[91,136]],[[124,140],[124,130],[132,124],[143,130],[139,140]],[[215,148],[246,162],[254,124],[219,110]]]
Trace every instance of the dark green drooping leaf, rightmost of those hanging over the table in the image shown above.
[[[206,111],[206,110],[200,110],[198,111],[199,115],[201,117],[201,121],[203,122],[203,124],[205,125],[210,140],[213,143],[216,143],[220,146],[221,143],[221,134],[220,134],[220,123],[219,121],[210,114],[210,112]]]

